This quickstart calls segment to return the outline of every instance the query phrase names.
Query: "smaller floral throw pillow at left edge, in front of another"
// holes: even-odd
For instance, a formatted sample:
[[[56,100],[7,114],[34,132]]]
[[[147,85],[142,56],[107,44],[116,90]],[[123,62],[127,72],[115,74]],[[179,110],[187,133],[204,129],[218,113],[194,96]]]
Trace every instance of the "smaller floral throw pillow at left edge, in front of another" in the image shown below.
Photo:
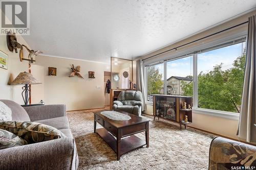
[[[0,150],[24,144],[28,144],[28,142],[11,132],[0,129]]]

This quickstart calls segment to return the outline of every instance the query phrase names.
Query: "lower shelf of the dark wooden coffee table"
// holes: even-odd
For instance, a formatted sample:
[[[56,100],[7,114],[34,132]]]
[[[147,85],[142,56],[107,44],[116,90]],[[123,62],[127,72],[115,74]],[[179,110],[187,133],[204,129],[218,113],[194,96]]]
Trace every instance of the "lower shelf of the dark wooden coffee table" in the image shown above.
[[[106,143],[117,153],[117,144],[116,139],[104,128],[96,129],[96,133],[102,137]],[[138,149],[146,145],[145,140],[142,140],[141,138],[131,135],[129,137],[125,137],[121,139],[121,149],[120,149],[120,155],[123,155],[127,152],[130,152],[132,150]]]

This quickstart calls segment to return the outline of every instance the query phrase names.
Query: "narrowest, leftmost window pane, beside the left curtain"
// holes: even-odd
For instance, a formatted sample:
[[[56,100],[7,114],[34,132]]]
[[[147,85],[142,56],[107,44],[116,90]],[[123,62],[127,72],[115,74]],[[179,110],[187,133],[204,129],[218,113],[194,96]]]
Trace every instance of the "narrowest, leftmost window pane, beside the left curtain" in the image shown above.
[[[147,67],[147,101],[153,102],[151,94],[163,94],[163,63]]]

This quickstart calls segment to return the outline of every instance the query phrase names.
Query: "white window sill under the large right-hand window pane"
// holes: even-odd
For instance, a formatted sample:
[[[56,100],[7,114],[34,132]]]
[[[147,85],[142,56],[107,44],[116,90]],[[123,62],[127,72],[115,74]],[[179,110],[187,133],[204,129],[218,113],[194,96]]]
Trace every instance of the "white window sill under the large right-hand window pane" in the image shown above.
[[[197,114],[204,114],[204,115],[210,115],[215,117],[228,118],[232,120],[239,120],[239,113],[225,112],[225,111],[219,111],[219,110],[199,109],[199,108],[193,109],[193,112]]]

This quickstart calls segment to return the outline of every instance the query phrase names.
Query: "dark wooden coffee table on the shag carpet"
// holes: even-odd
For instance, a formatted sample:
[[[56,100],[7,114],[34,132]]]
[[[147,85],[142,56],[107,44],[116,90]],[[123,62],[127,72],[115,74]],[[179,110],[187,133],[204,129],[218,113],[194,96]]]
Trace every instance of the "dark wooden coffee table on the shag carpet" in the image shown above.
[[[150,122],[150,120],[118,110],[116,111],[131,116],[131,119],[113,120],[100,114],[102,111],[94,112],[94,133],[100,135],[105,140],[105,142],[108,143],[109,146],[116,152],[117,160],[120,159],[121,155],[141,148],[144,145],[146,145],[147,148],[149,147],[148,122]],[[103,128],[96,129],[97,123],[100,124]],[[115,136],[116,139],[109,132]],[[141,138],[134,135],[140,132],[145,132],[146,140],[142,140]]]

